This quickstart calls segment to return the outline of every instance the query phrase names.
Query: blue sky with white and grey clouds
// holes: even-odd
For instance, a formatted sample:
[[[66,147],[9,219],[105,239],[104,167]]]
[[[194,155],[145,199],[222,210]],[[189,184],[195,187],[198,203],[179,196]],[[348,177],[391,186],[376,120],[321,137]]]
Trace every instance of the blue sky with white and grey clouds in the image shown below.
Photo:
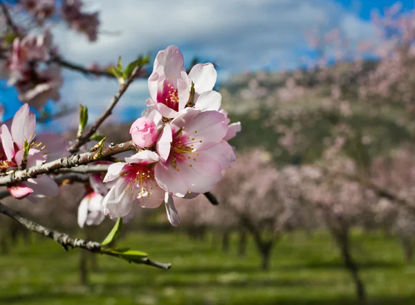
[[[107,64],[122,56],[156,55],[171,44],[181,48],[185,62],[194,56],[218,65],[218,82],[247,71],[296,68],[309,52],[307,31],[339,28],[348,41],[374,39],[370,13],[391,6],[391,0],[84,0],[88,10],[100,10],[101,33],[90,44],[85,37],[54,26],[59,52],[72,62]],[[414,1],[401,1],[412,10]],[[118,90],[115,80],[91,79],[64,72],[62,99],[68,105],[85,104],[93,120]],[[134,82],[112,120],[140,116],[148,98],[146,80]],[[0,102],[7,100],[7,119],[19,107],[13,89],[0,84]],[[58,107],[52,102],[51,111]],[[75,120],[64,121],[67,127]]]

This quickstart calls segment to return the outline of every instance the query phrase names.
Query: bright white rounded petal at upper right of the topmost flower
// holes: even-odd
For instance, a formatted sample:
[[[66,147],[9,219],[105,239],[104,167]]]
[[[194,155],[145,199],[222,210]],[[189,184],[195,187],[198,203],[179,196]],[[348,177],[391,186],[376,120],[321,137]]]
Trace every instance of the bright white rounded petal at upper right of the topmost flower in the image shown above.
[[[203,93],[213,89],[217,73],[213,64],[196,64],[189,73],[190,82],[194,82],[194,91]]]

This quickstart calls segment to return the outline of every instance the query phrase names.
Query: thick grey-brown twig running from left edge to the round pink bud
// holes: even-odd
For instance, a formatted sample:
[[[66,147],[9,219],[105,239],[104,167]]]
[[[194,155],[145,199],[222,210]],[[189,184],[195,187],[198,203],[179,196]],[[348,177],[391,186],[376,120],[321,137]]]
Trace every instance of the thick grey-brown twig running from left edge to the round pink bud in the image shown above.
[[[56,169],[85,165],[130,150],[136,150],[136,145],[132,140],[118,145],[111,145],[110,147],[103,149],[102,154],[100,155],[98,155],[98,152],[96,151],[88,151],[83,154],[75,154],[73,156],[60,158],[52,162],[44,163],[43,165],[35,165],[33,167],[28,167],[27,169],[17,170],[16,172],[10,173],[8,176],[1,176],[0,185],[26,181],[28,178],[35,178],[40,174],[53,174],[53,171]]]

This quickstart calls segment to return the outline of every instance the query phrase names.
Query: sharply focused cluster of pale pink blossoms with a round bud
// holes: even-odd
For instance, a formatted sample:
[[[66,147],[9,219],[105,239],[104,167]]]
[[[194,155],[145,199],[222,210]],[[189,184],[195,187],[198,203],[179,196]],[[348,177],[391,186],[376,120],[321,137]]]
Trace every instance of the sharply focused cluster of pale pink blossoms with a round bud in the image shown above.
[[[197,64],[189,75],[176,46],[161,50],[149,77],[148,108],[131,125],[139,150],[125,162],[109,166],[104,182],[114,183],[104,197],[104,213],[126,216],[134,204],[158,207],[165,203],[172,225],[179,217],[173,197],[194,198],[210,192],[222,170],[236,159],[228,144],[241,130],[229,124],[221,95],[213,91],[212,64]]]

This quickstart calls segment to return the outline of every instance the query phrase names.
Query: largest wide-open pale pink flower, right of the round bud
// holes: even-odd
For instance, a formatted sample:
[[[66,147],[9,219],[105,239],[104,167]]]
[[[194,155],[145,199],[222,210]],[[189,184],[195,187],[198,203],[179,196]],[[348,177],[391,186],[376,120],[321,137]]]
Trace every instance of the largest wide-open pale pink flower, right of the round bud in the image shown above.
[[[157,143],[160,163],[156,181],[163,190],[183,197],[189,192],[204,193],[221,180],[226,164],[219,156],[229,153],[221,145],[228,130],[225,116],[218,111],[186,108],[165,125]]]

